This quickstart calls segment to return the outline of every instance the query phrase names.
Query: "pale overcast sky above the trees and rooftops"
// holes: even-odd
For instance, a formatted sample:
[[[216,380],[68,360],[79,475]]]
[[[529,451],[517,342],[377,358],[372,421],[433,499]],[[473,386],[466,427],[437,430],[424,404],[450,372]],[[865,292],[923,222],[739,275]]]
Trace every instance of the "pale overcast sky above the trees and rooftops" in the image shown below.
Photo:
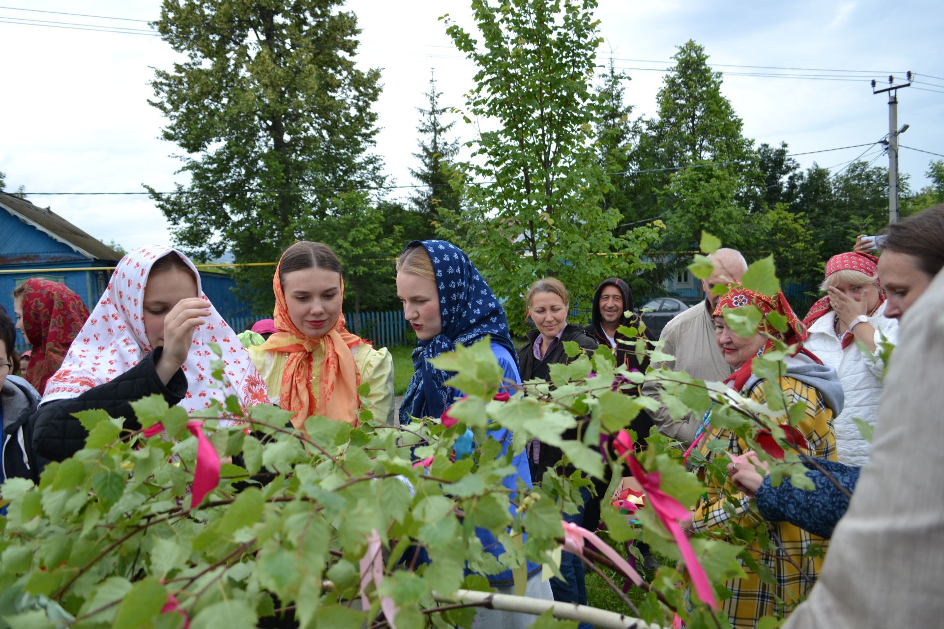
[[[138,0],[10,0],[14,7],[153,20],[160,2]],[[470,25],[468,3],[457,0],[353,0],[346,5],[362,27],[359,62],[380,68],[384,89],[377,150],[397,184],[415,183],[418,122],[425,106],[430,68],[442,102],[461,107],[475,72],[451,45],[438,20],[448,12]],[[12,18],[59,24],[8,24]],[[675,47],[694,39],[725,71],[723,91],[744,120],[745,134],[760,142],[786,141],[805,153],[877,141],[888,127],[885,94],[872,95],[868,80],[911,70],[913,88],[899,92],[899,124],[910,124],[901,142],[944,154],[944,8],[937,1],[787,3],[719,0],[600,0],[598,18],[605,43],[598,63],[609,57],[632,76],[627,102],[636,114],[651,115],[661,72]],[[174,53],[160,38],[91,32],[67,25],[120,25],[140,22],[0,8],[3,90],[0,97],[0,171],[8,188],[33,192],[129,192],[146,183],[172,190],[179,161],[177,146],[160,141],[164,123],[147,104],[152,67],[169,68]],[[80,28],[80,26],[79,26]],[[651,62],[649,62],[651,61]],[[809,74],[806,70],[751,70],[733,66],[830,69],[824,80],[775,78],[731,73]],[[644,70],[645,68],[645,70]],[[849,71],[866,71],[850,73]],[[861,80],[840,80],[850,74]],[[920,90],[916,89],[920,88]],[[933,91],[928,91],[933,90]],[[453,129],[462,140],[472,130]],[[797,159],[809,166],[841,165],[866,147]],[[865,158],[887,158],[872,148]],[[902,148],[900,168],[912,186],[927,183],[935,156]],[[841,166],[834,169],[838,170]],[[96,238],[126,248],[169,242],[170,225],[147,196],[32,196]]]

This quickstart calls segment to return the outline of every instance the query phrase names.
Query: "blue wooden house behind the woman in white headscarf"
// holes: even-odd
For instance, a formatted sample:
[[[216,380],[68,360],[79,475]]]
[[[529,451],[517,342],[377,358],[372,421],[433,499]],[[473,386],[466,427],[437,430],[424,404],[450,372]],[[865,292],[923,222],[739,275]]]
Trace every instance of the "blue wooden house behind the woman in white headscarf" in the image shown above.
[[[13,289],[30,277],[66,285],[91,311],[120,259],[121,254],[48,207],[0,193],[0,306],[7,309],[10,319],[14,318]],[[251,320],[249,306],[232,290],[232,278],[201,270],[200,279],[223,318],[244,329]],[[17,348],[26,349],[19,330]]]

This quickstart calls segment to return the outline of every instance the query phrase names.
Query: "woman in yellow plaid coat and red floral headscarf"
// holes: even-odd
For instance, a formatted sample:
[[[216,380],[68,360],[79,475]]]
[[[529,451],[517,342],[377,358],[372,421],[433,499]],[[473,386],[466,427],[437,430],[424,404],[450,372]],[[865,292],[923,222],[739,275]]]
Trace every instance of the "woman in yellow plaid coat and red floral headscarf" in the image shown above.
[[[722,309],[741,306],[756,306],[764,314],[760,331],[750,339],[743,339],[733,334],[722,316]],[[787,333],[780,334],[767,322],[767,315],[776,312],[787,322]],[[715,333],[718,347],[728,364],[735,372],[726,383],[745,397],[760,403],[767,402],[771,388],[766,381],[752,373],[751,360],[761,356],[773,347],[773,340],[765,334],[783,340],[787,345],[800,345],[806,338],[806,330],[794,314],[783,293],[774,297],[755,293],[746,289],[734,289],[725,294],[714,312]],[[827,460],[836,459],[833,418],[842,410],[842,386],[833,368],[824,367],[816,356],[805,350],[799,350],[785,360],[785,372],[778,379],[777,390],[786,408],[795,405],[805,406],[805,418],[796,426],[806,440],[800,448],[805,454]],[[708,422],[711,417],[708,416]],[[704,434],[696,438],[698,450],[698,473],[702,480],[706,477],[706,466],[717,455],[724,452],[742,455],[748,449],[747,443],[739,439],[731,430],[705,426]],[[720,443],[718,443],[720,441]],[[721,447],[718,447],[721,446]],[[695,457],[693,457],[695,458]],[[730,483],[726,483],[728,494],[722,493],[714,480],[708,480],[708,491],[692,519],[692,529],[696,532],[717,531],[725,522],[732,522],[740,527],[750,528],[761,521],[756,513],[750,513],[750,499],[743,493],[737,493]],[[750,555],[756,562],[751,570],[744,565],[747,576],[733,578],[725,583],[732,596],[721,603],[735,627],[754,627],[757,621],[767,615],[785,617],[796,604],[805,599],[822,564],[828,541],[819,538],[787,522],[771,522],[768,535],[771,548],[765,552],[754,541],[749,546]],[[819,551],[817,551],[817,547]],[[811,552],[812,551],[812,552]],[[773,583],[765,583],[757,571],[769,571]],[[769,580],[769,578],[767,579]]]

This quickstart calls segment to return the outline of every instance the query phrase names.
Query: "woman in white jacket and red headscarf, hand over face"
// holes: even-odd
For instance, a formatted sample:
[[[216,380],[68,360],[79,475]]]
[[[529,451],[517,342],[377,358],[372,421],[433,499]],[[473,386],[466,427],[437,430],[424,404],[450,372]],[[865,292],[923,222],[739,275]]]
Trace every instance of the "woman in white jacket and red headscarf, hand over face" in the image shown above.
[[[873,425],[878,419],[885,363],[876,350],[883,339],[898,340],[898,321],[885,317],[877,257],[831,257],[819,290],[826,296],[803,320],[809,330],[806,347],[835,368],[846,396],[842,413],[834,419],[839,462],[862,466],[868,461],[869,444],[852,418]]]

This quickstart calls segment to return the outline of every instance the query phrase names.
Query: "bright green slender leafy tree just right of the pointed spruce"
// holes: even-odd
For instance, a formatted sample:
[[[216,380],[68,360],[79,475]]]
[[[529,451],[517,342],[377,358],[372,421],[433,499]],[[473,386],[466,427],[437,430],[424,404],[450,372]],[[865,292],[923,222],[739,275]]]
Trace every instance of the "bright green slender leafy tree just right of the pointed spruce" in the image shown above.
[[[620,212],[604,207],[610,181],[591,142],[596,6],[474,0],[475,36],[447,18],[447,33],[478,67],[464,112],[477,121],[474,158],[460,165],[467,232],[454,238],[506,299],[518,331],[532,281],[557,275],[574,305],[588,308],[601,279],[644,266],[653,236],[652,228],[615,236]]]

